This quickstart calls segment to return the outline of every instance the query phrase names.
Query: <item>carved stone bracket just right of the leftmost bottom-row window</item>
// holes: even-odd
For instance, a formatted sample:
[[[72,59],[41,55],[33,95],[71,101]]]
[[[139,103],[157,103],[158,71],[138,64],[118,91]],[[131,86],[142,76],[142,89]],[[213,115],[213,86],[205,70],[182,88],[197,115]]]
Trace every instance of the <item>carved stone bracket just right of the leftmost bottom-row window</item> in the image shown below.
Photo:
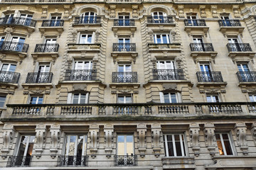
[[[40,158],[43,149],[46,147],[46,125],[40,124],[36,126],[36,157]]]

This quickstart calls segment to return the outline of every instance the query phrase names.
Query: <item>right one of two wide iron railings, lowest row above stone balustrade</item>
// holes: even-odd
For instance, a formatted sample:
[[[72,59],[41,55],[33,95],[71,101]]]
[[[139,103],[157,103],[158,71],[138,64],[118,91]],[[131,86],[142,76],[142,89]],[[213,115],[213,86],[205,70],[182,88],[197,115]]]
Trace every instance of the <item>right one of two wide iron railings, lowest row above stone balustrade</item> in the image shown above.
[[[153,69],[154,80],[184,80],[182,69]]]

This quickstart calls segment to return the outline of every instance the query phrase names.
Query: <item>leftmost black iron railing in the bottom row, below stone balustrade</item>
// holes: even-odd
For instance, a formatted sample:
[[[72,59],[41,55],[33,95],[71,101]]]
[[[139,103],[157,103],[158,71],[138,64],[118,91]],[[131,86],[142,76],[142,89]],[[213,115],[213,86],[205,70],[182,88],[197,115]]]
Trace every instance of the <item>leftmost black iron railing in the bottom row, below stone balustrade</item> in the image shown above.
[[[31,165],[31,156],[25,157],[9,157],[6,167],[15,167],[15,166],[30,166]]]

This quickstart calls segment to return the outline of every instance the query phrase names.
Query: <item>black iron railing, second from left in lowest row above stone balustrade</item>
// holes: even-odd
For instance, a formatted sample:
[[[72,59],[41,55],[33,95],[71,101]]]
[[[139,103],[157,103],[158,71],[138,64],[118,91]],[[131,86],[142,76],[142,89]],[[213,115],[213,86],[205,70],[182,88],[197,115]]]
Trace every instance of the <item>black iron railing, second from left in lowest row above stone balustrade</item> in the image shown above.
[[[26,78],[27,84],[51,83],[53,79],[52,72],[30,72]]]

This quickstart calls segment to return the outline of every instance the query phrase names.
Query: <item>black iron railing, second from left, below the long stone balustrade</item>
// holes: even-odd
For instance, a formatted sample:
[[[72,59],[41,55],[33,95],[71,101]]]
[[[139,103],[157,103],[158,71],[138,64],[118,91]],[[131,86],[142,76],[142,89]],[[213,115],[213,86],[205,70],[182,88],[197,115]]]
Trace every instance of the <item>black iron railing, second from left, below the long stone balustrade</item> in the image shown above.
[[[87,166],[88,156],[59,156],[57,166]]]

